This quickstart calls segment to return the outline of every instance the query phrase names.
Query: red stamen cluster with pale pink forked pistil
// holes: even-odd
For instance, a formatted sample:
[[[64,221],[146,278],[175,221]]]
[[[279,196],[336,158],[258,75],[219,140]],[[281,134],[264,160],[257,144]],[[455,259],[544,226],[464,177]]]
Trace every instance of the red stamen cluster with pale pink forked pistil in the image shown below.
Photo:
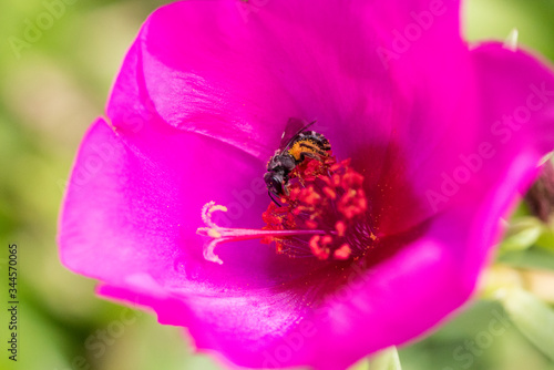
[[[259,238],[275,244],[277,254],[289,257],[316,257],[320,260],[358,258],[372,247],[377,237],[368,223],[368,201],[363,176],[350,167],[350,160],[337,162],[306,158],[289,174],[287,192],[271,202],[261,215],[261,229],[224,228],[212,222],[216,210],[226,207],[206,204],[202,218],[206,227],[197,234],[211,237],[204,257],[223,264],[214,249],[219,243]]]

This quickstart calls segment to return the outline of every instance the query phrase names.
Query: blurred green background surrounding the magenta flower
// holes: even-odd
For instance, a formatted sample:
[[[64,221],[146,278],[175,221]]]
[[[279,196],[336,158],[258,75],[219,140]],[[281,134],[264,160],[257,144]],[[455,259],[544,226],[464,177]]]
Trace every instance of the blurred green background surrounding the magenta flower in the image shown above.
[[[55,244],[63,186],[80,140],[103,114],[142,21],[163,3],[74,1],[19,53],[10,37],[22,39],[27,22],[47,8],[42,0],[0,4],[0,291],[6,302],[7,246],[17,243],[20,298],[19,361],[8,360],[2,304],[0,369],[222,368],[193,354],[182,329],[96,298],[94,281],[61,266]],[[468,40],[502,40],[517,28],[521,44],[554,60],[554,1],[472,0],[464,14]],[[553,239],[551,228],[521,207],[480,299],[432,336],[401,348],[403,369],[554,369]],[[509,289],[496,289],[502,287]],[[511,320],[494,335],[491,322],[506,308]]]

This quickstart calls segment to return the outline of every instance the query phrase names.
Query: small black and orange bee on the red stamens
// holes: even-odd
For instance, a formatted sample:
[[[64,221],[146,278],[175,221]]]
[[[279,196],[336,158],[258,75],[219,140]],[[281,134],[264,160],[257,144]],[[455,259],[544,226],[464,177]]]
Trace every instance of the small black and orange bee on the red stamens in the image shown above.
[[[305,121],[290,119],[283,133],[279,148],[267,163],[267,173],[264,175],[267,191],[271,201],[278,206],[280,204],[274,198],[274,195],[280,197],[288,195],[289,174],[297,165],[302,163],[306,157],[321,161],[331,150],[329,141],[320,133],[306,131],[316,121],[308,124]],[[298,126],[300,129],[298,130]],[[288,133],[295,132],[293,136]]]

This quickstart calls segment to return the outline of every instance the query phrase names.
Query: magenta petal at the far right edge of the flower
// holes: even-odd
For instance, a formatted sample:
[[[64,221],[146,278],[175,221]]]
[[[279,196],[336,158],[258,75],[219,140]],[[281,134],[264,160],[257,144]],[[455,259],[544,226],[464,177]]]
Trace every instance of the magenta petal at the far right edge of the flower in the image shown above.
[[[552,71],[524,52],[489,43],[471,52],[474,89],[465,97],[476,112],[470,122],[454,122],[466,134],[444,145],[421,173],[419,193],[435,212],[474,199],[514,194],[506,174],[517,171],[521,189],[534,178],[537,164],[554,145],[554,78]],[[437,158],[443,153],[443,158]],[[444,161],[449,160],[449,161]],[[521,171],[516,169],[521,168]],[[516,178],[516,177],[514,177]],[[513,195],[512,195],[513,196]]]

